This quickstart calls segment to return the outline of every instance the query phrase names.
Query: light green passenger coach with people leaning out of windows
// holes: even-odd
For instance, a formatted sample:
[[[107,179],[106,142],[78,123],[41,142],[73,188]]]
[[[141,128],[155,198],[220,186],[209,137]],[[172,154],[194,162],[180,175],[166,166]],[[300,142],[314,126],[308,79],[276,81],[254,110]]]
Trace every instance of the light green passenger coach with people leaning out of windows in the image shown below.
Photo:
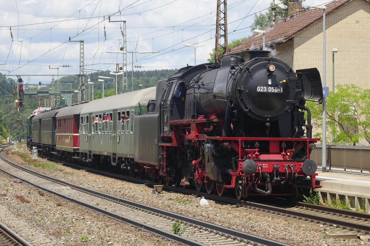
[[[87,103],[80,113],[80,158],[95,167],[111,163],[134,168],[134,116],[147,112],[155,91],[151,87]],[[123,124],[121,115],[125,116]]]

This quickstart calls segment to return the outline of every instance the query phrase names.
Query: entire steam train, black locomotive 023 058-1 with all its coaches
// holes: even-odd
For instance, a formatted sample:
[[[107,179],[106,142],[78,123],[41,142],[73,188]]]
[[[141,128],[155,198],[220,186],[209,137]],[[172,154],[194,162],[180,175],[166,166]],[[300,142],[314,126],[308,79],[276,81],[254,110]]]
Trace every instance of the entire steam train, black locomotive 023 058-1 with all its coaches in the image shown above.
[[[294,72],[268,53],[225,56],[221,65],[184,67],[156,87],[43,112],[30,120],[28,145],[168,185],[234,191],[238,199],[297,195],[307,176],[320,188],[309,159],[319,139],[305,107],[323,99],[320,74]]]

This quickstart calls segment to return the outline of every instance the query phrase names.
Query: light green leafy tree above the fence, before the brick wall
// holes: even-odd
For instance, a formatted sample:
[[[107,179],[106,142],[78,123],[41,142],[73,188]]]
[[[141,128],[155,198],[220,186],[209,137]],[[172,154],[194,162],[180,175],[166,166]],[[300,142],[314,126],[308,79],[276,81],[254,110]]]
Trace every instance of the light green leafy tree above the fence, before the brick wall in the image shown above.
[[[370,89],[361,89],[354,84],[336,86],[336,93],[326,98],[326,125],[328,142],[333,144],[370,143]],[[314,127],[322,125],[322,105],[307,102]],[[320,137],[321,133],[317,133]]]

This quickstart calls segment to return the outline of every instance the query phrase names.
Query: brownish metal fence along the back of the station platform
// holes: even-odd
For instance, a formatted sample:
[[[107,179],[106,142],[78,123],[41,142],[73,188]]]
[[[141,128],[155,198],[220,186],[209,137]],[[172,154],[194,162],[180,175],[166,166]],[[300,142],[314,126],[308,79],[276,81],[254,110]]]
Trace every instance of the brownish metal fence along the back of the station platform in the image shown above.
[[[316,145],[310,159],[322,165],[322,145]],[[330,169],[342,168],[370,171],[370,146],[327,145],[326,166]]]

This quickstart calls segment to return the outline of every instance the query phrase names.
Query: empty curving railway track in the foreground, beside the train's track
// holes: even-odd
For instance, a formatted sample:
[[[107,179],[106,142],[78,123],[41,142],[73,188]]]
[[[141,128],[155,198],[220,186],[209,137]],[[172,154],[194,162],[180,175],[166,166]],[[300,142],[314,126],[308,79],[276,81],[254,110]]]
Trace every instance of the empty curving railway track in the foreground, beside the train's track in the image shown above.
[[[0,157],[4,161],[0,162],[0,170],[10,176],[21,179],[37,188],[56,194],[77,204],[94,209],[112,218],[170,240],[183,243],[184,245],[288,245],[77,186],[29,170],[10,162],[3,156]],[[186,227],[182,236],[171,232],[174,222],[180,222],[180,229]]]

